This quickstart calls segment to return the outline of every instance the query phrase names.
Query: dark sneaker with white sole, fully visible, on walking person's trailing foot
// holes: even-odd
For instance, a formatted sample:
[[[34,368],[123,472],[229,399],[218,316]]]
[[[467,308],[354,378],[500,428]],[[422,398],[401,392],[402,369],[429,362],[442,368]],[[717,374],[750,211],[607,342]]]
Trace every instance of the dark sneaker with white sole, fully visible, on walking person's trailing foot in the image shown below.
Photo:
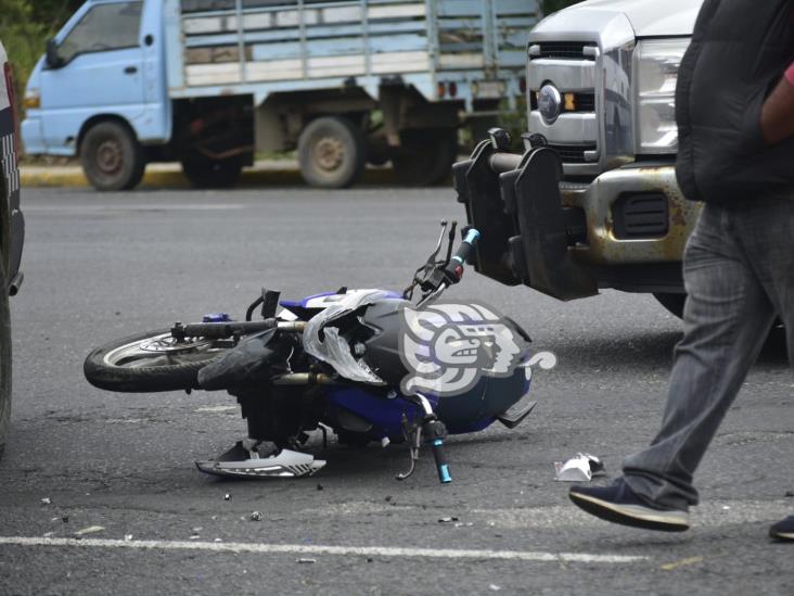
[[[614,523],[664,532],[689,530],[688,511],[653,505],[636,495],[623,479],[611,486],[573,486],[568,496],[588,513]]]

